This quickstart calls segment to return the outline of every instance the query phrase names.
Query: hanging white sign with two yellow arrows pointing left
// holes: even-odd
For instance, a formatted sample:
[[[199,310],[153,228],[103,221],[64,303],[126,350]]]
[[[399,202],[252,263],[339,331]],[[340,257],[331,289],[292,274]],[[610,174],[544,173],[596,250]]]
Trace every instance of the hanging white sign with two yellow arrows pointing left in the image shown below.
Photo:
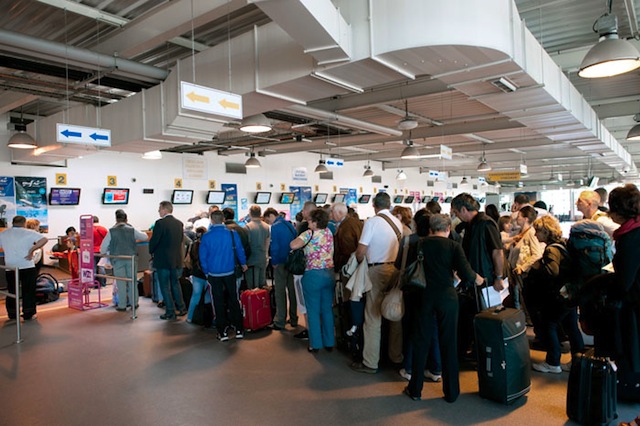
[[[180,82],[180,106],[184,109],[242,119],[242,96],[185,81]]]

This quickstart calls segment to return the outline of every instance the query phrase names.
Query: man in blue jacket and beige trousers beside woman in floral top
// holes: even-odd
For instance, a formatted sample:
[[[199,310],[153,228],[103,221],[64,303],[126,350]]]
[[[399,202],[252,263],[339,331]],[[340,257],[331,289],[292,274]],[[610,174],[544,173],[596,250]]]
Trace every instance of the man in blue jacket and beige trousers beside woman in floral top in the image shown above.
[[[287,271],[284,263],[289,255],[289,243],[298,233],[293,225],[281,217],[274,208],[270,207],[264,211],[264,220],[271,225],[269,253],[276,287],[276,317],[273,320],[273,329],[284,330],[287,320],[287,291],[289,292],[289,322],[292,327],[297,327],[298,310],[293,275]]]

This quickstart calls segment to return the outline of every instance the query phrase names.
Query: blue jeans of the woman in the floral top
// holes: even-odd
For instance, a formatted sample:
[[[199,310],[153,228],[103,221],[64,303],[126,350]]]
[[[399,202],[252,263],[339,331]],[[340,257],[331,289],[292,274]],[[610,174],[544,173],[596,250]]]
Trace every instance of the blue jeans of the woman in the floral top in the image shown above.
[[[302,276],[302,291],[307,305],[309,347],[332,348],[336,344],[333,325],[335,278],[331,269],[309,269]]]

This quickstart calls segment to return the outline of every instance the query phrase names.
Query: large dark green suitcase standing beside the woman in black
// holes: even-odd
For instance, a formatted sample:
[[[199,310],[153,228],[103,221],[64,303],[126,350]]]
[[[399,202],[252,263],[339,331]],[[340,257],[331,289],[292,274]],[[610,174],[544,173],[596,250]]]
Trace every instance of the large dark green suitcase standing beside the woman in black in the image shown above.
[[[485,309],[473,319],[480,396],[510,404],[531,390],[525,315],[519,309]]]

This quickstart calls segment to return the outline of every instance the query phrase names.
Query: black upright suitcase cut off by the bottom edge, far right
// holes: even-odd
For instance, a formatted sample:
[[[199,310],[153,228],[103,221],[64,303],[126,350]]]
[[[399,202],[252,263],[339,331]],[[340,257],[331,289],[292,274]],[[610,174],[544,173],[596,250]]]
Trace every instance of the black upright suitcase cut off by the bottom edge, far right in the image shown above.
[[[583,425],[606,425],[618,417],[616,371],[593,349],[574,357],[567,386],[567,416]]]

